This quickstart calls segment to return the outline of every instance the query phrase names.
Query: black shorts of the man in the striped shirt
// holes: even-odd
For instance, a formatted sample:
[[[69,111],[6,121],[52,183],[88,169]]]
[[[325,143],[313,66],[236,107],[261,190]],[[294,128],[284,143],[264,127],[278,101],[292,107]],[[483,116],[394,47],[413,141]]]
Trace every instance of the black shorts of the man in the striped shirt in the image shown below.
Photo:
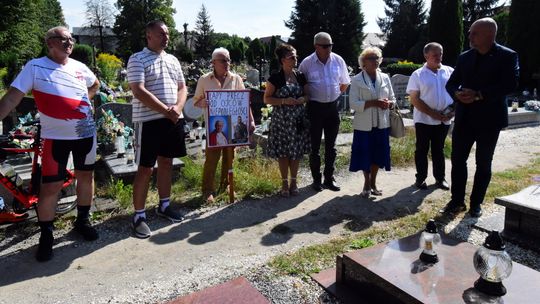
[[[176,124],[170,119],[160,118],[134,125],[137,165],[154,167],[158,156],[175,158],[187,155],[183,119]]]

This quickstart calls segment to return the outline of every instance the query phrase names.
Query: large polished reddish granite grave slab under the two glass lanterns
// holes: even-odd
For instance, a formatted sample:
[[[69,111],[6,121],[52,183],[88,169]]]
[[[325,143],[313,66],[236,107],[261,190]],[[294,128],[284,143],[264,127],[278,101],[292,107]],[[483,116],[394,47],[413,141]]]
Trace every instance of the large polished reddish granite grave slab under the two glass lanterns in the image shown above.
[[[513,263],[503,281],[508,293],[491,297],[474,289],[478,247],[442,236],[439,262],[419,261],[420,234],[345,253],[335,269],[312,277],[344,303],[538,303],[540,273]]]

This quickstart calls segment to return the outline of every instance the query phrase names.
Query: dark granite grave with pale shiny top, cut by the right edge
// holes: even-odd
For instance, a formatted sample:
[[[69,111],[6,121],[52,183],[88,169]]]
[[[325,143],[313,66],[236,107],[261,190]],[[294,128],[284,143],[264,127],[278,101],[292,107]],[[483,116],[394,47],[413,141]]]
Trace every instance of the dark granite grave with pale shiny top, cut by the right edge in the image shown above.
[[[505,207],[505,238],[540,250],[540,185],[529,186],[518,193],[495,198]]]

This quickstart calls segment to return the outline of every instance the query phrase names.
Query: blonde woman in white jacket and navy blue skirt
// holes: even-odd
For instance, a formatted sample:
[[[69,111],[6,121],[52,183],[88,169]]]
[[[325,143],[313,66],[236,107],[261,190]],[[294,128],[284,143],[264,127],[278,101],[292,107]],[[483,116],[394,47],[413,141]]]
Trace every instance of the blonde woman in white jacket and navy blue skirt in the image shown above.
[[[352,78],[349,100],[355,111],[349,171],[364,172],[362,197],[382,195],[379,168],[390,171],[390,111],[395,103],[390,77],[379,70],[382,52],[366,48],[358,57],[362,71]]]

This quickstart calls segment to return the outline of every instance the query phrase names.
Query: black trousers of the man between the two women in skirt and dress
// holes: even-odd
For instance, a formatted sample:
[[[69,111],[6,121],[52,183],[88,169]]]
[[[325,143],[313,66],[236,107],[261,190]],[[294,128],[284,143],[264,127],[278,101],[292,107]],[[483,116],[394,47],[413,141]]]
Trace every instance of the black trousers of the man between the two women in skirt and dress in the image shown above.
[[[307,107],[310,121],[311,153],[309,167],[314,182],[321,182],[321,156],[319,153],[321,137],[324,132],[324,178],[331,180],[334,176],[336,161],[336,138],[339,132],[339,113],[337,102],[322,103],[310,100]]]

